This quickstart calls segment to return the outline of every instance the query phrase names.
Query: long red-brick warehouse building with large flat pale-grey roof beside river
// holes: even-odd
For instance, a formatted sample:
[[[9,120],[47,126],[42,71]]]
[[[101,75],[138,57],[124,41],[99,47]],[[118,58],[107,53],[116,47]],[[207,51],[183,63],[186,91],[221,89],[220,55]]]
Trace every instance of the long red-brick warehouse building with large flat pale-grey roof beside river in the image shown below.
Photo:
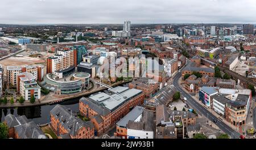
[[[88,98],[81,98],[79,111],[92,120],[97,135],[114,126],[134,106],[142,105],[144,94],[142,90],[118,86],[107,93],[97,93]],[[96,115],[100,115],[96,116]]]

